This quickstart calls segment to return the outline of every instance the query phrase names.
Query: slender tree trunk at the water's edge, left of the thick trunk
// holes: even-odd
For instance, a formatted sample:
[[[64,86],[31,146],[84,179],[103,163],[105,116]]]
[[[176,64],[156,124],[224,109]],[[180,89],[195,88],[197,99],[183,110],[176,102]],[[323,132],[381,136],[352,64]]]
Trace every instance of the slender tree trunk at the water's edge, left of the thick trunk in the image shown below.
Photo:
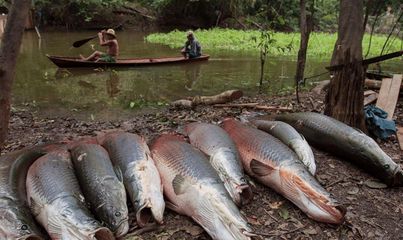
[[[299,83],[304,78],[306,50],[308,48],[309,35],[311,34],[312,30],[311,21],[309,21],[309,23],[307,21],[305,0],[300,0],[300,9],[301,9],[301,17],[300,17],[301,42],[298,51],[297,72],[295,74],[295,88],[298,103],[299,103]],[[312,20],[312,16],[310,16],[310,19]]]

